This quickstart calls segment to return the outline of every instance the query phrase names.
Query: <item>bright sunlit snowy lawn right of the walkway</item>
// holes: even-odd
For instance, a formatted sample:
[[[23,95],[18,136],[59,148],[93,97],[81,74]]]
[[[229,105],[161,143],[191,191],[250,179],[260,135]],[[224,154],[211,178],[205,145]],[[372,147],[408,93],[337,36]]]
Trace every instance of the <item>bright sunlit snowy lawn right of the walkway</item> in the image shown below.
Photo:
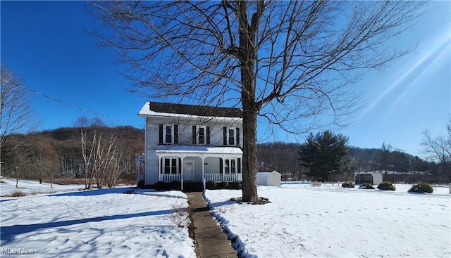
[[[242,257],[451,257],[448,188],[414,194],[410,186],[259,186],[266,205],[229,201],[241,191],[204,195]]]

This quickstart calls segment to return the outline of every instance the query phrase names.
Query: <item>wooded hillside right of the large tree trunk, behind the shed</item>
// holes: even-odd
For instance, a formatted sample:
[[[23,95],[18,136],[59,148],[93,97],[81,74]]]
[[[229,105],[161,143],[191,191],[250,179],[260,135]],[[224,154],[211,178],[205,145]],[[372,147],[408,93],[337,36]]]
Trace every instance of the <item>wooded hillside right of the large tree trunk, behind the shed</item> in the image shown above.
[[[276,170],[285,180],[311,179],[305,176],[305,168],[299,165],[298,150],[301,143],[271,142],[258,146],[260,171]],[[447,176],[440,165],[427,162],[399,150],[350,147],[350,157],[354,160],[356,172],[380,171],[386,181],[445,183]],[[399,172],[393,174],[393,172]],[[405,172],[424,172],[408,174]],[[336,175],[333,180],[352,180],[353,174]]]

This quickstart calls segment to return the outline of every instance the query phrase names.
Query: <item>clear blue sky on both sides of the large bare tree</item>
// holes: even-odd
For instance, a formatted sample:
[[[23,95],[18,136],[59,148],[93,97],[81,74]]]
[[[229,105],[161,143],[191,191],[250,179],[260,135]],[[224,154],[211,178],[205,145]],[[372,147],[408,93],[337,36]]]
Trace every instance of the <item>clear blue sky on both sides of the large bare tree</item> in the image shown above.
[[[97,47],[84,30],[95,20],[82,2],[1,1],[0,7],[1,64],[27,88],[83,109],[30,92],[39,129],[71,127],[81,116],[144,127],[137,112],[148,99],[125,91],[129,82],[119,75],[113,51]],[[366,102],[350,117],[350,127],[336,131],[350,145],[381,148],[385,142],[423,157],[422,132],[445,134],[451,115],[451,1],[431,1],[425,10],[414,27],[390,42],[398,49],[417,45],[415,51],[354,85]],[[260,136],[264,129],[258,127]],[[283,132],[262,138],[304,141]]]

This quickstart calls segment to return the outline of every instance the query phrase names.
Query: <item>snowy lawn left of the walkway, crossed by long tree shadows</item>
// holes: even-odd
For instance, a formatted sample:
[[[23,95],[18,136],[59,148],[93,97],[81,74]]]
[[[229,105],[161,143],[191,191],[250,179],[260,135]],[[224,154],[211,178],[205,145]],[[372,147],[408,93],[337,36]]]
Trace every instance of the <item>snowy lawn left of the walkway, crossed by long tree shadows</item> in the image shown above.
[[[2,181],[1,195],[17,190],[15,181]],[[30,193],[44,189],[25,181],[19,187]],[[2,197],[1,257],[196,257],[187,228],[171,220],[174,208],[187,207],[184,193],[133,187],[67,192],[74,188],[79,186],[50,189],[62,193]]]

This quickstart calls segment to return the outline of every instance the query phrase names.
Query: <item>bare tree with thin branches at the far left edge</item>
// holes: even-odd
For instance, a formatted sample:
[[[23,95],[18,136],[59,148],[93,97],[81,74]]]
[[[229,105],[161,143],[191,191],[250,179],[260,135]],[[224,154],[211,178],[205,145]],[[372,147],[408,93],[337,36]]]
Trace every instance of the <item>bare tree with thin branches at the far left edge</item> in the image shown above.
[[[23,88],[20,79],[4,65],[0,66],[1,164],[1,160],[4,160],[7,155],[27,141],[28,136],[37,129],[39,123],[32,112],[27,90]],[[7,152],[1,152],[8,141],[13,144],[8,144]]]

